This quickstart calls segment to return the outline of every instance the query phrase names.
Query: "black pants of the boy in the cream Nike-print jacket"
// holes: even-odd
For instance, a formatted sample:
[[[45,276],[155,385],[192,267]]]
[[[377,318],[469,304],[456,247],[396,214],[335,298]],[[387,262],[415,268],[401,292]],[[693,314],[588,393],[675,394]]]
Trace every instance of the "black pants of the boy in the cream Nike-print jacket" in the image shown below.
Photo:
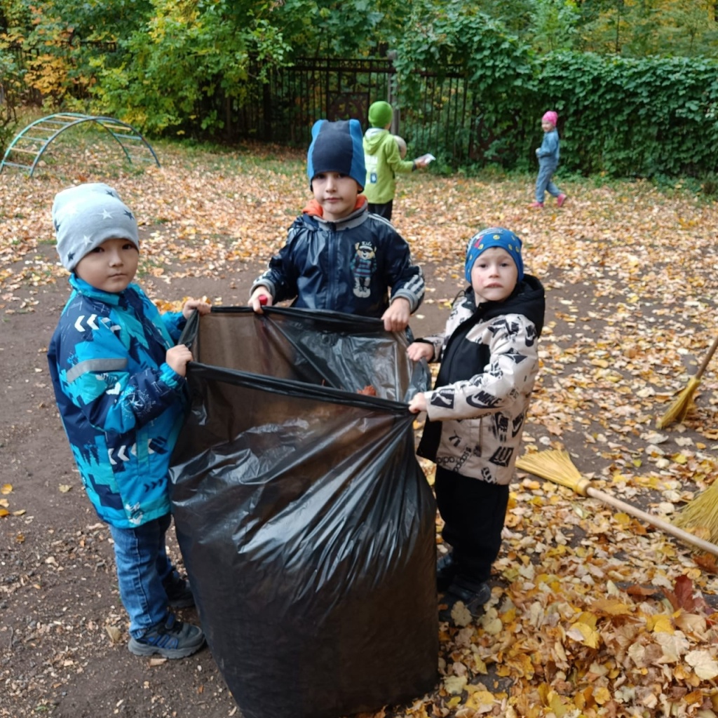
[[[442,538],[454,549],[459,575],[488,581],[501,548],[508,485],[490,484],[437,466],[434,480]]]

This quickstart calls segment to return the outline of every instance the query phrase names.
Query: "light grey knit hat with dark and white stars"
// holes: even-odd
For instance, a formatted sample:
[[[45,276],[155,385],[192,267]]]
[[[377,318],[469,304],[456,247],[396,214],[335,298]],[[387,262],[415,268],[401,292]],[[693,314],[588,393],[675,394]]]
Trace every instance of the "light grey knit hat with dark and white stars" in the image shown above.
[[[137,221],[109,185],[90,182],[57,192],[52,202],[57,253],[73,271],[85,254],[108,239],[129,239],[139,251]]]

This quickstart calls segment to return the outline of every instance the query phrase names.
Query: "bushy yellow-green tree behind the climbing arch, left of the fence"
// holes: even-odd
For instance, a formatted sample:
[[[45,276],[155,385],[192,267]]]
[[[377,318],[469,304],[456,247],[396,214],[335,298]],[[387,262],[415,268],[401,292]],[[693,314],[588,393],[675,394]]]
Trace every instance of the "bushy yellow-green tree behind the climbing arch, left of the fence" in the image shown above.
[[[269,4],[230,0],[151,0],[151,17],[120,52],[95,60],[95,98],[114,116],[150,133],[180,134],[197,126],[216,134],[230,109],[260,101],[248,93],[288,52],[264,17]]]

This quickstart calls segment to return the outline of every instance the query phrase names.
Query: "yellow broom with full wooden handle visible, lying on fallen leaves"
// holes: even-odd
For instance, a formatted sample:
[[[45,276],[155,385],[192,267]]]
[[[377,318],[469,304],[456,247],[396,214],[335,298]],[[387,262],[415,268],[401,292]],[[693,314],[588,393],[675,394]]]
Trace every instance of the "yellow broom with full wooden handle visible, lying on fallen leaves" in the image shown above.
[[[553,481],[561,486],[566,486],[582,496],[590,496],[591,498],[598,499],[613,508],[625,511],[625,513],[630,514],[630,516],[635,516],[635,518],[640,518],[641,521],[650,523],[651,526],[661,528],[662,531],[666,531],[666,533],[670,533],[671,536],[680,538],[681,541],[693,544],[701,549],[701,551],[708,551],[710,554],[718,556],[718,546],[716,546],[716,544],[712,544],[710,541],[704,541],[704,539],[694,536],[682,528],[673,526],[673,524],[668,523],[668,521],[662,521],[650,513],[645,513],[645,511],[640,510],[640,508],[635,508],[635,506],[630,505],[630,503],[625,503],[625,501],[621,501],[610,494],[592,488],[592,486],[589,485],[590,480],[582,477],[579,470],[573,465],[567,451],[548,449],[543,452],[525,454],[516,460],[516,468],[540,476],[542,479]]]

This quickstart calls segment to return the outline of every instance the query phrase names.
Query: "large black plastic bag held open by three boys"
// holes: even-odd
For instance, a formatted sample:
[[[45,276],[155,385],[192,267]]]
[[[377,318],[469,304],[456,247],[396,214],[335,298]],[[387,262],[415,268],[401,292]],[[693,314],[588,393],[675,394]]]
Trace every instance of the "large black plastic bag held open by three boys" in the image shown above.
[[[436,508],[406,339],[333,312],[215,308],[172,457],[202,628],[245,718],[335,718],[437,681]],[[378,396],[356,393],[373,386]]]

